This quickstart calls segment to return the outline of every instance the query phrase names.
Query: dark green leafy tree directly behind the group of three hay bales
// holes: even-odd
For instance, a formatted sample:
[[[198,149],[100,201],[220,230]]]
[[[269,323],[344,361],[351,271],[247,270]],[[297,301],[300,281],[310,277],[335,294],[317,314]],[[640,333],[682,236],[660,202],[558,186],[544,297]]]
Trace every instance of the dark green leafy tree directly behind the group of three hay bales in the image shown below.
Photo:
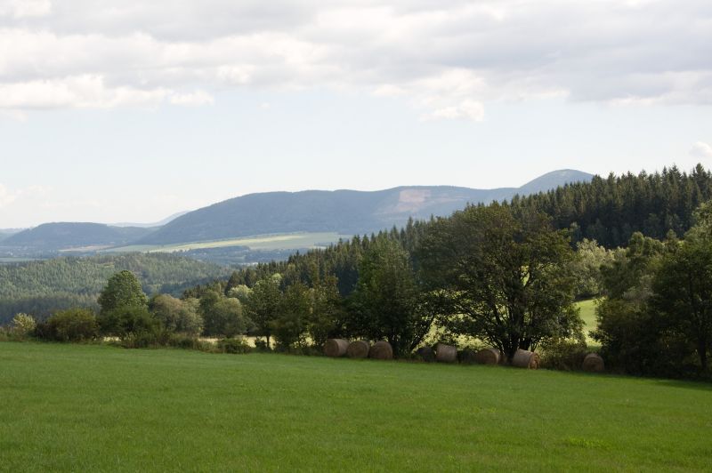
[[[409,254],[398,241],[377,237],[360,261],[351,300],[352,332],[387,340],[396,356],[408,353],[433,324],[433,315],[420,302]]]

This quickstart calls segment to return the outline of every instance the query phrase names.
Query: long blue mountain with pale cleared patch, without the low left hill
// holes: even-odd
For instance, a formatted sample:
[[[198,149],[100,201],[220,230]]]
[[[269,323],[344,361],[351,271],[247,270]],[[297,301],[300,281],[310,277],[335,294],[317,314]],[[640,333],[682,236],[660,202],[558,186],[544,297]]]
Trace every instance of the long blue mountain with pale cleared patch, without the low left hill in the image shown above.
[[[306,190],[250,194],[186,213],[140,240],[142,244],[247,237],[288,232],[363,234],[402,226],[409,217],[447,216],[468,203],[490,203],[516,194],[546,191],[589,181],[586,172],[549,172],[521,188],[400,187],[365,192]]]

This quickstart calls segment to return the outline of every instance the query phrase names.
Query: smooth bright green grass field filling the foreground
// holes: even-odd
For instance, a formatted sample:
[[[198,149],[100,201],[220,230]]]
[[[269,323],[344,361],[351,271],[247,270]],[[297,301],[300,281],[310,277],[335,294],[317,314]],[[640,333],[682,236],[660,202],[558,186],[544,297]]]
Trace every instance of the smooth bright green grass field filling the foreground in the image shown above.
[[[710,470],[712,387],[0,343],[0,469]]]

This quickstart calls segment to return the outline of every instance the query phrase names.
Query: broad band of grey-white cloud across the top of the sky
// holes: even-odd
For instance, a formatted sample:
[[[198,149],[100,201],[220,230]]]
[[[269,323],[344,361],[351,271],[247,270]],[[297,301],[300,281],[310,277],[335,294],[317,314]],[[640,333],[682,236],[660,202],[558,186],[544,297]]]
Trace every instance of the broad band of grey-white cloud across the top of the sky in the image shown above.
[[[206,105],[226,87],[400,96],[471,120],[552,96],[712,104],[709,57],[707,0],[0,0],[0,107],[19,110]]]

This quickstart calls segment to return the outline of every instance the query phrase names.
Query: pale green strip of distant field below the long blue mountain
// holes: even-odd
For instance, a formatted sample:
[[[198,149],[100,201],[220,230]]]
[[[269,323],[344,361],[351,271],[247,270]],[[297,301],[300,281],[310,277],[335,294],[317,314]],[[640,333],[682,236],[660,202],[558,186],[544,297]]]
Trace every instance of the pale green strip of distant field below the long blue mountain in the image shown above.
[[[229,240],[215,240],[208,242],[193,242],[175,245],[129,245],[106,250],[109,253],[127,252],[181,252],[201,250],[206,248],[226,248],[230,246],[247,246],[250,250],[298,250],[302,248],[315,248],[336,243],[339,238],[351,238],[348,235],[339,235],[334,232],[325,233],[288,233],[281,235],[263,235]]]

